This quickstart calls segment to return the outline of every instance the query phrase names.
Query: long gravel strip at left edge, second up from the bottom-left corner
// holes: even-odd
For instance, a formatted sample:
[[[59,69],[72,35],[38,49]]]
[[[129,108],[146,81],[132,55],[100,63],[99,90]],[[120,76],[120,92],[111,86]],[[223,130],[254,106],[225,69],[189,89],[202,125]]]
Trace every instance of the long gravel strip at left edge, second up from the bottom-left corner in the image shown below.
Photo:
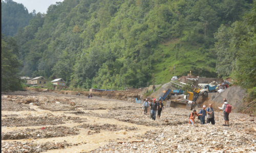
[[[41,129],[24,129],[2,133],[2,140],[43,139],[78,135],[78,129],[66,126],[50,126]]]

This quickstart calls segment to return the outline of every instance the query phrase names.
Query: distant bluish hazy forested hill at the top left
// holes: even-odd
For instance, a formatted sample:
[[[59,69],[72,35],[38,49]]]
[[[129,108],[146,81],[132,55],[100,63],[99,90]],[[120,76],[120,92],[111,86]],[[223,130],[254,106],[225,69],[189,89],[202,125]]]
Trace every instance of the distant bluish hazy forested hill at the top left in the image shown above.
[[[12,0],[2,1],[1,4],[1,30],[5,35],[13,36],[17,33],[19,27],[26,27],[29,24],[29,20],[35,15],[35,10],[33,13],[29,13],[23,4],[18,4]]]

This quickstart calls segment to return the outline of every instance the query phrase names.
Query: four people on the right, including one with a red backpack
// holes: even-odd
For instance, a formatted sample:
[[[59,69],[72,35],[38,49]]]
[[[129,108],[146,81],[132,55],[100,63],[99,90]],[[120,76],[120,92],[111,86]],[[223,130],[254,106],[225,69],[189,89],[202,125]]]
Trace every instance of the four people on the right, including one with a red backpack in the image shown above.
[[[228,121],[229,121],[229,113],[231,112],[231,106],[227,103],[226,98],[223,99],[224,103],[222,107],[219,109],[223,110],[223,115],[224,115],[224,124],[223,126],[229,126]],[[198,116],[198,119],[200,119],[200,124],[205,124],[205,116],[207,118],[206,123],[211,123],[215,124],[215,116],[214,116],[214,109],[212,108],[212,104],[209,105],[209,107],[206,109],[206,106],[204,105],[202,110],[200,110],[199,114],[197,113],[196,110],[194,110],[192,113],[189,115],[189,124],[195,124],[195,118]]]

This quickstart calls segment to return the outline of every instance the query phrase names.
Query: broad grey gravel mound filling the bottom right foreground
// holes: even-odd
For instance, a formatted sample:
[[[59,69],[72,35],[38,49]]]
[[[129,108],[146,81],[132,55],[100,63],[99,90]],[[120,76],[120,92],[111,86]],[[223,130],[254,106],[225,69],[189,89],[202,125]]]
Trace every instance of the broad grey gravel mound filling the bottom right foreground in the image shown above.
[[[90,152],[255,152],[255,131],[245,134],[246,127],[164,126],[137,136],[135,142],[111,142]]]

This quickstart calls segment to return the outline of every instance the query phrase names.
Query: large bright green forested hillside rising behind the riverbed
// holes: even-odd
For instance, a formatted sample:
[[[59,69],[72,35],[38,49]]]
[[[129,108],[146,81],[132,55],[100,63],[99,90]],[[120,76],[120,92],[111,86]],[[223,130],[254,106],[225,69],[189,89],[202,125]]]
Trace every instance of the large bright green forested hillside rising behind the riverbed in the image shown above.
[[[19,29],[22,72],[79,88],[122,89],[174,75],[217,77],[218,29],[249,13],[245,0],[65,0]],[[230,72],[229,72],[230,73]],[[229,73],[219,73],[221,77]],[[125,85],[124,85],[125,84]]]

